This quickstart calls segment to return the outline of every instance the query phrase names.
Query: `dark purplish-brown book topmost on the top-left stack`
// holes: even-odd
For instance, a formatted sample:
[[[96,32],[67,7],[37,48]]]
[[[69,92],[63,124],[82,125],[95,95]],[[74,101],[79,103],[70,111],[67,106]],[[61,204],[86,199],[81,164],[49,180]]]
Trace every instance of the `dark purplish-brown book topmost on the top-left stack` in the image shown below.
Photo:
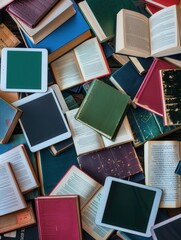
[[[59,0],[16,0],[8,5],[7,12],[35,27]]]

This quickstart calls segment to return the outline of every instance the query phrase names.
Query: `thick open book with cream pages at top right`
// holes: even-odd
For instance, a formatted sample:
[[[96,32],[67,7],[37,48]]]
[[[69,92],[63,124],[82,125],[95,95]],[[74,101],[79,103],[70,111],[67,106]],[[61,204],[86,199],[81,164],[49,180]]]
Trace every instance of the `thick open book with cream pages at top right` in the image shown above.
[[[116,53],[162,57],[181,52],[180,8],[164,8],[147,18],[122,9],[117,14]]]

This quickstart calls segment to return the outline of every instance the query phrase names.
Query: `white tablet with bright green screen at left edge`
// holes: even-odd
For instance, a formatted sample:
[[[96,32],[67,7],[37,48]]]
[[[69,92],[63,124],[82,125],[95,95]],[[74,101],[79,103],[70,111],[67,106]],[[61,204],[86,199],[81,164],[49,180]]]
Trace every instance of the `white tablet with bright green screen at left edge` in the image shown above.
[[[47,49],[2,49],[1,90],[9,92],[46,92],[47,88]]]

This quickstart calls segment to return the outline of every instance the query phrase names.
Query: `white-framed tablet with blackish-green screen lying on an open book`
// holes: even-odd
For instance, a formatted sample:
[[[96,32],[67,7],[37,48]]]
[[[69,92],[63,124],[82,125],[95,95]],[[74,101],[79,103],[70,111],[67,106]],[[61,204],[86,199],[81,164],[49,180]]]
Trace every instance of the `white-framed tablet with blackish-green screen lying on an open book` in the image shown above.
[[[155,187],[107,177],[96,215],[103,227],[150,237],[162,191]]]

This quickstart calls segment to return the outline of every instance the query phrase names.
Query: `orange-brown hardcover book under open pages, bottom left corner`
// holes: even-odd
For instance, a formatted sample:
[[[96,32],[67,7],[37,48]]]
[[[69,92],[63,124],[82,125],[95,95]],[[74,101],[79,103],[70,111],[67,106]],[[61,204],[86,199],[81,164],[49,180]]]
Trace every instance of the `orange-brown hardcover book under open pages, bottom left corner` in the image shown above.
[[[12,234],[8,232],[17,230],[20,228],[24,228],[24,227],[29,227],[31,225],[36,224],[36,218],[35,218],[32,202],[28,202],[27,207],[25,209],[1,216],[0,219],[1,219],[0,234],[6,233],[6,236],[10,235],[11,239],[12,239],[12,236],[13,236],[13,239],[15,239],[16,235],[14,236],[12,232],[11,232]],[[31,239],[32,237],[33,235],[31,235]],[[21,238],[22,238],[22,235],[21,235]],[[2,237],[2,239],[4,238]]]

